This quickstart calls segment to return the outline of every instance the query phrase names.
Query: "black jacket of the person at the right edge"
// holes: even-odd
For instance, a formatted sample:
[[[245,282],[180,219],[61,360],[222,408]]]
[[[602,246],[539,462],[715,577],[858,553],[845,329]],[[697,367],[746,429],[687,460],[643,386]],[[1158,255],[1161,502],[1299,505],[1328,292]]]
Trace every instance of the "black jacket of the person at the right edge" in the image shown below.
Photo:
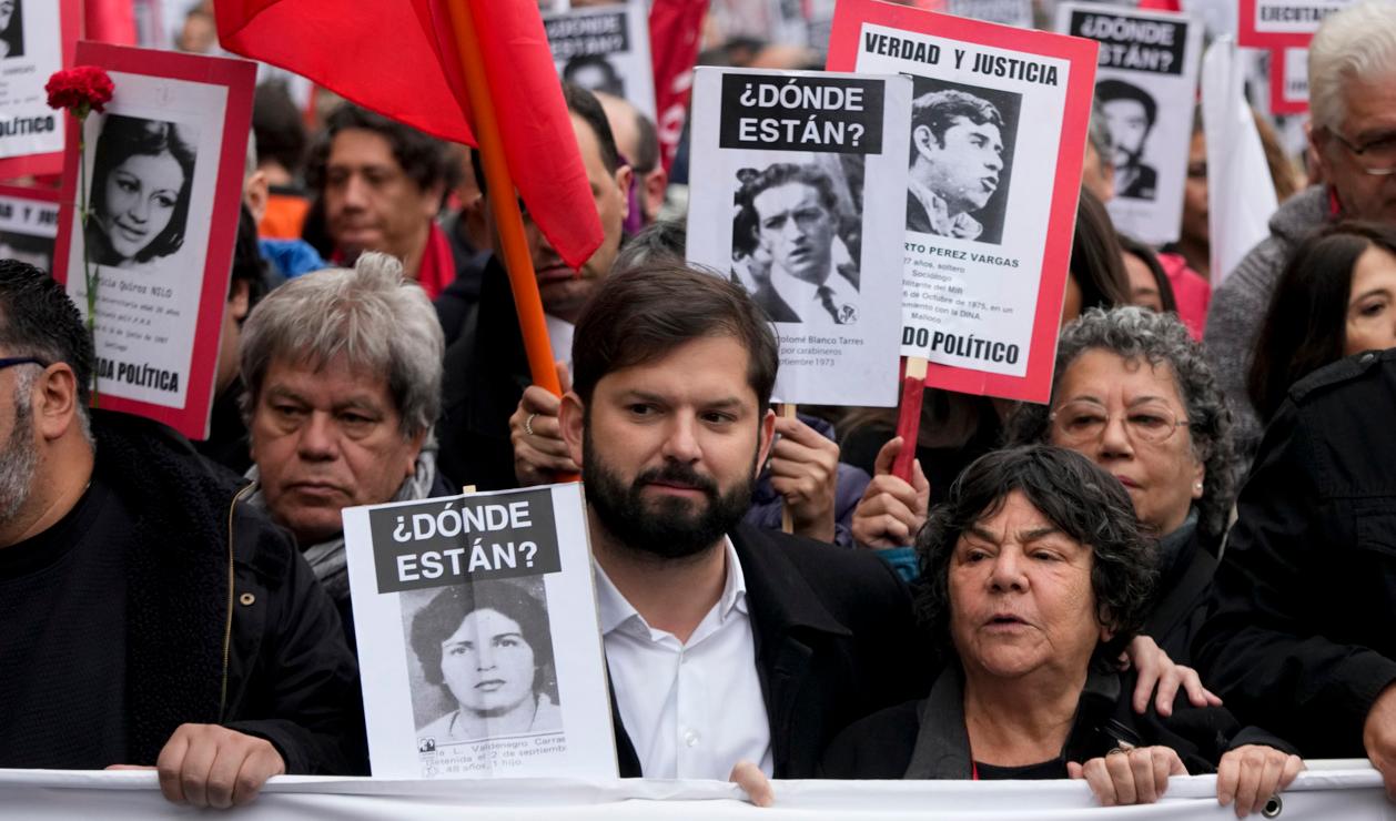
[[[1396,350],[1295,383],[1237,510],[1194,642],[1202,680],[1305,757],[1365,755],[1396,681]]]

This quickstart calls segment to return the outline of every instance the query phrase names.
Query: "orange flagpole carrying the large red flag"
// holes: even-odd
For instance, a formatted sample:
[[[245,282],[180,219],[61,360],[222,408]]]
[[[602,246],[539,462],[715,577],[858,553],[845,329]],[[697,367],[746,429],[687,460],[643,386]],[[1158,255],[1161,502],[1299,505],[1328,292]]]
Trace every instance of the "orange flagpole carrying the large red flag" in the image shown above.
[[[504,140],[500,137],[500,121],[494,114],[494,101],[484,77],[484,57],[480,53],[475,14],[470,11],[469,0],[448,0],[447,11],[451,28],[455,31],[456,52],[461,54],[465,89],[470,96],[470,113],[475,116],[472,126],[475,138],[480,142],[484,182],[491,193],[490,207],[494,208],[494,222],[504,247],[504,267],[510,272],[510,286],[514,289],[514,306],[519,314],[519,330],[524,332],[529,373],[533,384],[560,397],[563,385],[557,381],[557,369],[553,366],[553,346],[547,339],[543,300],[537,293],[533,260],[529,257],[528,240],[524,236],[524,215],[519,214],[514,179],[504,161]]]

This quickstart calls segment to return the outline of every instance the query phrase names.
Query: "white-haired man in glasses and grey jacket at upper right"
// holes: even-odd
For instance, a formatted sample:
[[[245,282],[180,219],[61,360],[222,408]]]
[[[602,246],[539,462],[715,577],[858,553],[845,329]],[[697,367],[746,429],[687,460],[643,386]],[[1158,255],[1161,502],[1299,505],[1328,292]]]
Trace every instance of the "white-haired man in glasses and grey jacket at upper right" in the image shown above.
[[[1309,43],[1308,61],[1309,142],[1326,184],[1275,212],[1270,236],[1213,293],[1203,338],[1237,416],[1242,466],[1261,440],[1245,374],[1284,260],[1330,219],[1396,223],[1396,4],[1358,3],[1329,15]]]

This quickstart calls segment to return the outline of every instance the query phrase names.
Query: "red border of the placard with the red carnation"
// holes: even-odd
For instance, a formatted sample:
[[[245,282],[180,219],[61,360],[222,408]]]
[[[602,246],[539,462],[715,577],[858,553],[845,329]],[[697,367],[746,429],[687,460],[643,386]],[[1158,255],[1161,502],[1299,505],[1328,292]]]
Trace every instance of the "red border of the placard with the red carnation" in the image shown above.
[[[243,172],[247,165],[247,134],[253,120],[253,88],[257,64],[248,60],[202,57],[133,49],[82,40],[77,59],[84,66],[101,66],[107,71],[168,77],[228,88],[228,109],[223,116],[223,137],[218,151],[218,179],[214,186],[214,209],[208,228],[202,288],[198,297],[198,320],[194,331],[194,350],[190,359],[188,387],[183,409],[166,408],[137,399],[102,394],[102,408],[135,413],[163,422],[190,438],[208,437],[208,413],[214,404],[214,378],[218,373],[218,343],[228,303],[228,282],[232,276],[233,242],[237,237],[237,215],[243,200]],[[121,88],[116,88],[120,99]],[[67,162],[63,169],[63,198],[59,209],[59,237],[53,251],[53,276],[67,283],[68,251],[73,246],[73,222],[77,202],[78,130],[68,128]]]

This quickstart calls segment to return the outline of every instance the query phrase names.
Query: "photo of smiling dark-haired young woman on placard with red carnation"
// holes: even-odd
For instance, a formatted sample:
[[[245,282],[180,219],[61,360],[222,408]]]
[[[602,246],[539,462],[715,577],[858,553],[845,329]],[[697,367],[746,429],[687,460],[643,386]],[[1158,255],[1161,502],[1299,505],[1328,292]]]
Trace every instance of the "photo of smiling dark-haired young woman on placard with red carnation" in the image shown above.
[[[3,1],[3,0],[0,0]],[[198,135],[188,126],[107,114],[96,140],[87,222],[99,265],[154,267],[180,250]]]

